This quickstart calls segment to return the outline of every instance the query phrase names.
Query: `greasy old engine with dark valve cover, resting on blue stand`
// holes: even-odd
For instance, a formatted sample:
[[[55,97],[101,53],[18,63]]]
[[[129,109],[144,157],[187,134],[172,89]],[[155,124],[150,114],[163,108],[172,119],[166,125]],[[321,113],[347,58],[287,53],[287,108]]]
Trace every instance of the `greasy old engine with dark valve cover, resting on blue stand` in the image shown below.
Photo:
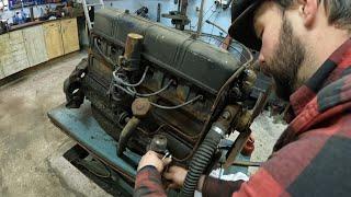
[[[139,43],[127,56],[129,33]],[[227,80],[248,61],[248,51],[236,47],[238,53],[230,54],[190,34],[102,9],[95,13],[88,59],[65,82],[67,106],[79,107],[88,99],[95,119],[118,140],[135,116],[133,102],[147,99],[151,107],[137,117],[127,148],[145,153],[152,137],[162,135],[173,159],[185,164],[208,123],[225,105],[244,100],[240,74],[215,102]]]

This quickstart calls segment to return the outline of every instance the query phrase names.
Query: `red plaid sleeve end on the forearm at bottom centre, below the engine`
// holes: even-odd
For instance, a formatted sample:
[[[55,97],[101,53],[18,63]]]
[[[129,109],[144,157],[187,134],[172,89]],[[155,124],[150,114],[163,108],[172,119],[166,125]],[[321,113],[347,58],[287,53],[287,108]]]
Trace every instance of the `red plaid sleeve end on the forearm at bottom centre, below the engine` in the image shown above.
[[[155,166],[148,165],[138,171],[134,196],[166,196],[161,175]]]

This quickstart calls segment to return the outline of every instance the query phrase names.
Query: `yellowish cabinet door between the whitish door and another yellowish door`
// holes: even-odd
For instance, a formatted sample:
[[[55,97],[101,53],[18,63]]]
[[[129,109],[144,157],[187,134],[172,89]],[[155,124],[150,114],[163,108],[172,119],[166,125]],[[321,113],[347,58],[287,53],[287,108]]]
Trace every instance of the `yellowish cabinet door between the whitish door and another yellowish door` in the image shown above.
[[[43,24],[47,58],[53,59],[64,55],[63,37],[59,21]]]

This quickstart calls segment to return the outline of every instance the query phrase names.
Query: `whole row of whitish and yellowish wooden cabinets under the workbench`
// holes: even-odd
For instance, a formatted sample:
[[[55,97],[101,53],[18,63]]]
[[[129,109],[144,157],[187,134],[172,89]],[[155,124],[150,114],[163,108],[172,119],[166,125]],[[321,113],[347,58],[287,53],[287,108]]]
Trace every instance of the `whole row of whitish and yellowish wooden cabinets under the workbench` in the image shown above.
[[[77,19],[1,34],[0,79],[76,50],[79,50]]]

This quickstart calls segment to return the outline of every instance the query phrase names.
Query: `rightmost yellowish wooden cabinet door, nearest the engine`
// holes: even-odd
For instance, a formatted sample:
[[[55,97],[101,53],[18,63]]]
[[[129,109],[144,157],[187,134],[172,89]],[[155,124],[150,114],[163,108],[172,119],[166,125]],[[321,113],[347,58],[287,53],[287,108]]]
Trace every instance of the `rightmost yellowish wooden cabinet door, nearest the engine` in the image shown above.
[[[65,54],[79,50],[77,19],[63,20],[61,33]]]

